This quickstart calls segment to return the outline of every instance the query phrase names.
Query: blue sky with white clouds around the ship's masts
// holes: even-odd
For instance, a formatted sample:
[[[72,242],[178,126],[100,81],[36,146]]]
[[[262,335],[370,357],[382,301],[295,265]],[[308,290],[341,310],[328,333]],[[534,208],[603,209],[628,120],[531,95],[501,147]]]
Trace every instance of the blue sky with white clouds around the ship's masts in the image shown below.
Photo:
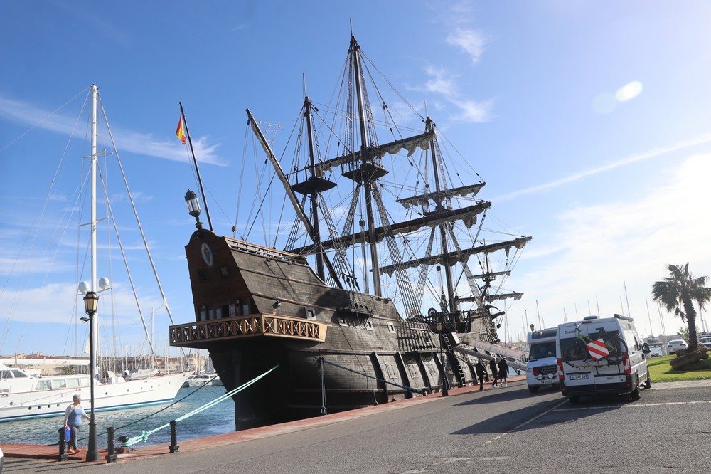
[[[326,102],[351,23],[383,74],[410,103],[427,102],[487,182],[480,197],[492,214],[533,236],[506,283],[525,293],[508,307],[513,337],[539,314],[552,326],[591,312],[629,312],[643,334],[659,334],[646,300],[666,265],[711,274],[711,5],[341,3],[0,1],[0,354],[72,353],[84,337],[85,327],[70,324],[76,256],[47,249],[76,241],[76,226],[60,238],[56,223],[85,154],[65,148],[90,84],[100,88],[173,317],[189,322],[183,246],[193,221],[183,196],[195,184],[174,135],[178,102],[215,228],[229,234],[245,108],[289,124],[302,74],[309,95]],[[60,160],[42,222],[50,230],[35,234]],[[122,238],[139,260],[140,236]],[[144,312],[156,310],[160,351],[161,298],[143,281],[149,268],[132,273],[149,301]],[[119,307],[132,299],[120,279],[114,292]],[[134,315],[115,319],[121,347],[141,350]],[[673,315],[663,322],[666,334],[681,324]]]

